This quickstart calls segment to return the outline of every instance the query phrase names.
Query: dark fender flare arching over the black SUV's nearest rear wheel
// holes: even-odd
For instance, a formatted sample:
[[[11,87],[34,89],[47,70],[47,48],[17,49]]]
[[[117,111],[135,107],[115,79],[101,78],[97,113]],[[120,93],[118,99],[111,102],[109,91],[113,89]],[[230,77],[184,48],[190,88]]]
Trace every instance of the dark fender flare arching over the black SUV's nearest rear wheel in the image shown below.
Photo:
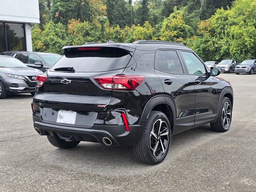
[[[172,120],[175,122],[175,120],[176,120],[176,106],[175,106],[174,101],[166,95],[158,95],[158,96],[152,97],[148,101],[146,106],[144,107],[144,110],[142,112],[142,116],[141,116],[140,120],[147,120],[150,112],[152,111],[152,109],[155,106],[159,105],[159,104],[166,104],[170,107],[171,112],[172,112]]]

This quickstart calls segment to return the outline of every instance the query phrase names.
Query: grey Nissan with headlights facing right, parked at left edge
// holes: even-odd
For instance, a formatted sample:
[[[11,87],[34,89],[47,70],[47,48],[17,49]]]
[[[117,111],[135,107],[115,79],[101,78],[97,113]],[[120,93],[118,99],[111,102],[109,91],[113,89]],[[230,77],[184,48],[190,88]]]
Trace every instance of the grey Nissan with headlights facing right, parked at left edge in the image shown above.
[[[42,71],[30,68],[11,56],[0,55],[0,99],[8,94],[34,95],[38,74],[42,74]]]

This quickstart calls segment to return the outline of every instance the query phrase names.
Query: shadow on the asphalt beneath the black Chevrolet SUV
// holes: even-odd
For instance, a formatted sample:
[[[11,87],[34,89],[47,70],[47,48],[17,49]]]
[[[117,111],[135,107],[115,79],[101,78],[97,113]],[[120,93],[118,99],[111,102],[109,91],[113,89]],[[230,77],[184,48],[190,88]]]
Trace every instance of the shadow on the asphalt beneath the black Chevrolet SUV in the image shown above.
[[[218,133],[212,132],[209,125],[201,126],[186,132],[172,136],[169,153],[159,168],[172,166],[173,157],[186,154],[199,141],[211,138]],[[53,147],[53,146],[52,146]],[[73,168],[85,172],[97,174],[141,174],[155,168],[142,164],[136,160],[132,147],[107,147],[102,144],[81,142],[76,148],[63,150],[58,148],[47,148],[46,154],[42,158],[47,163],[55,164],[65,168]]]

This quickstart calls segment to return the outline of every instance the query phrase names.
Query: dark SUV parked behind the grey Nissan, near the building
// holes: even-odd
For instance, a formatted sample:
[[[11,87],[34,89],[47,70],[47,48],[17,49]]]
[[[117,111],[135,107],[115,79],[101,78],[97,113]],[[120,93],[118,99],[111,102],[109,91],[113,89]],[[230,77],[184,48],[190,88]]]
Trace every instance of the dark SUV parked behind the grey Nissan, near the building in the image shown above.
[[[1,54],[13,56],[29,67],[39,69],[42,72],[46,72],[62,57],[54,53],[27,51],[6,51]]]

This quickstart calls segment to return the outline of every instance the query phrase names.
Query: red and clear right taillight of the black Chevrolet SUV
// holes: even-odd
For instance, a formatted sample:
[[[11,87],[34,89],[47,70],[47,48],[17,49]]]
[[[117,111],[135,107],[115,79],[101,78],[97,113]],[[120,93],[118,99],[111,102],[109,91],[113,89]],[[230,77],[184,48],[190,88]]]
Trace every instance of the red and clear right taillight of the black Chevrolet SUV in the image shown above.
[[[104,89],[135,90],[145,77],[140,75],[116,75],[95,77],[94,80]]]

